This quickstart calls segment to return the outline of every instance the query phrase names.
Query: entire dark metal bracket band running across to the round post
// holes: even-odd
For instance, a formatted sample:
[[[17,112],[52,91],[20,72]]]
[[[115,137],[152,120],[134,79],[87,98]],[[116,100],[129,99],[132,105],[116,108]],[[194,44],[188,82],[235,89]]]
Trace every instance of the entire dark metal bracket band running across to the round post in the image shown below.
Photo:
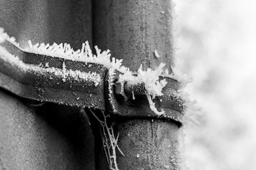
[[[0,87],[18,96],[70,106],[100,110],[107,108],[121,117],[168,118],[182,122],[183,102],[176,95],[180,83],[172,78],[165,78],[168,83],[163,89],[164,96],[153,100],[157,110],[164,111],[164,115],[159,116],[150,110],[144,84],[121,85],[118,83],[118,75],[122,73],[118,71],[115,71],[115,78],[109,80],[108,69],[100,64],[28,53],[7,41],[1,46],[12,52],[12,55],[18,56],[18,60],[28,67],[21,68],[0,53]],[[34,69],[29,69],[30,67]],[[54,74],[54,71],[47,72],[47,69],[52,68],[54,71],[64,72],[61,75]],[[101,83],[95,85],[93,81],[86,81],[84,78],[65,76],[65,71],[95,73]],[[113,85],[109,86],[109,81]],[[132,95],[135,99],[132,99]]]

